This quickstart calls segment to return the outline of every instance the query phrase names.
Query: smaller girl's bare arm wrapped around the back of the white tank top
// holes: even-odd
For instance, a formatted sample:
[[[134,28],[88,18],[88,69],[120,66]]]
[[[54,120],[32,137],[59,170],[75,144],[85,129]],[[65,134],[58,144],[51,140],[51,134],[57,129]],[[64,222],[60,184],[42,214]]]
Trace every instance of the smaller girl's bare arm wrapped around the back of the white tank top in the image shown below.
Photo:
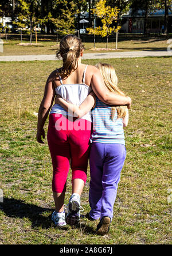
[[[95,93],[91,92],[87,98],[83,101],[80,106],[73,105],[68,103],[62,97],[57,96],[55,103],[60,104],[65,110],[71,112],[71,114],[77,118],[82,118],[89,111],[91,111],[92,107],[95,105],[96,96]]]

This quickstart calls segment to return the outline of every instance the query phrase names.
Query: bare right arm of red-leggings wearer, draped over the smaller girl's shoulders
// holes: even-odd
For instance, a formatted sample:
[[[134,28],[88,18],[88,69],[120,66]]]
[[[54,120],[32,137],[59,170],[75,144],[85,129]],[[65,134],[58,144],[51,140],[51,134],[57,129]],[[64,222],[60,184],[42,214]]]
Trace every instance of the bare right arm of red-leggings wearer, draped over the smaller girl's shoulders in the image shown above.
[[[130,109],[131,98],[116,95],[115,93],[108,91],[107,87],[104,84],[100,70],[96,69],[96,67],[92,76],[91,86],[96,96],[105,104],[111,106],[127,106],[128,109]]]

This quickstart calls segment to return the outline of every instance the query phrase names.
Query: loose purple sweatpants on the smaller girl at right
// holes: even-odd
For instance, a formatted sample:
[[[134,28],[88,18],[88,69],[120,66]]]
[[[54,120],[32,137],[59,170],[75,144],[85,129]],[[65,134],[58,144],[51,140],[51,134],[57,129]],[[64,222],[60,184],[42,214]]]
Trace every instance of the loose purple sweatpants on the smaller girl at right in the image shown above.
[[[125,159],[126,147],[122,144],[92,143],[89,159],[89,215],[93,219],[109,216],[112,220],[120,172]]]

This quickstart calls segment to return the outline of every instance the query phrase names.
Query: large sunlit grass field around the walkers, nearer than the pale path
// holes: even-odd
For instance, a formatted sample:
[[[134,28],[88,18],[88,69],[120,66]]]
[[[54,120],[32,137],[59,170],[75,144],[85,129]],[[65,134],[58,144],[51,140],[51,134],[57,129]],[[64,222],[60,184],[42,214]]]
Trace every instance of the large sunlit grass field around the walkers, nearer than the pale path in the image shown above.
[[[60,62],[0,63],[0,244],[170,244],[172,58],[107,59],[119,87],[132,97],[127,159],[110,233],[96,224],[53,227],[52,164],[48,144],[37,144],[38,107],[49,73]],[[103,60],[83,61],[95,65]],[[48,122],[45,130],[47,131]],[[89,211],[88,180],[81,205]],[[71,196],[71,172],[65,204]]]

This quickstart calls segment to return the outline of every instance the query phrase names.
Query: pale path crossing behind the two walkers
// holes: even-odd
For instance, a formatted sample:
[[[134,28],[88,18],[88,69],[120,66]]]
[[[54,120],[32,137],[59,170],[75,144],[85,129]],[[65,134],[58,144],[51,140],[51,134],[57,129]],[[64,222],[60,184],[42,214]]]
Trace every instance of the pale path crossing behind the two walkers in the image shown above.
[[[84,54],[83,59],[112,59],[139,57],[172,57],[172,51],[126,51],[126,52],[97,52]],[[55,55],[19,55],[2,56],[0,61],[56,61]]]

